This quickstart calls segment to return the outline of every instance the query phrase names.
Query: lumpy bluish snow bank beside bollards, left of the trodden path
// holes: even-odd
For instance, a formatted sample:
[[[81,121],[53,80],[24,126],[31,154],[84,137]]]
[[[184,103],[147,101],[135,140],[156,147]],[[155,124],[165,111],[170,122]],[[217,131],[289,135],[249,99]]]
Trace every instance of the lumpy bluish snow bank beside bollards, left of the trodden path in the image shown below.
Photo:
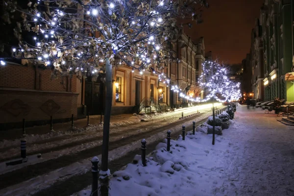
[[[210,196],[224,190],[216,189],[223,182],[222,173],[229,165],[229,142],[216,135],[215,146],[212,135],[188,132],[185,141],[181,136],[171,140],[171,150],[166,143],[159,143],[147,157],[143,167],[140,156],[123,171],[113,173],[110,196]],[[91,190],[84,190],[78,196],[90,196]]]

